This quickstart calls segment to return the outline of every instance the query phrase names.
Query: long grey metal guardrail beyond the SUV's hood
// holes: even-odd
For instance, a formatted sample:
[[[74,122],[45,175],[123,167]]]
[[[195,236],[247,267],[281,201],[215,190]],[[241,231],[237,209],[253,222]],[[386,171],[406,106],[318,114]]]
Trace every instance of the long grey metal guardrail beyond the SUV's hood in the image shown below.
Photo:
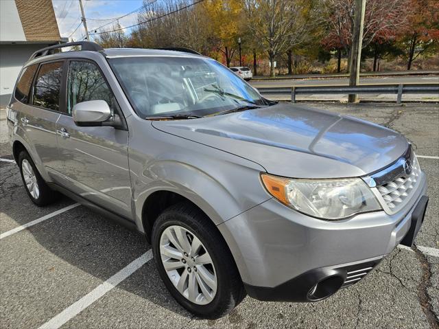
[[[291,93],[292,103],[296,95],[304,94],[355,94],[355,93],[394,93],[396,103],[401,104],[403,93],[436,93],[439,95],[438,84],[361,84],[359,86],[294,86],[294,87],[263,87],[258,88],[264,94]]]

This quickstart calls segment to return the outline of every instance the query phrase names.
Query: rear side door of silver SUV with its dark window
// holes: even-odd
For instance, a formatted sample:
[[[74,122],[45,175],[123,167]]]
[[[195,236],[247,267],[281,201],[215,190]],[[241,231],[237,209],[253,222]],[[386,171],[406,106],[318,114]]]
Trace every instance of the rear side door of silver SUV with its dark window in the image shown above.
[[[57,180],[58,176],[56,168],[60,166],[56,122],[60,117],[63,65],[64,61],[56,60],[27,67],[23,71],[23,83],[28,84],[31,76],[34,76],[32,71],[36,70],[29,99],[26,95],[20,94],[22,79],[17,84],[16,91],[16,98],[21,98],[18,123],[23,129],[23,138],[32,148],[30,152],[36,165],[39,168],[43,166],[45,172],[54,180]]]

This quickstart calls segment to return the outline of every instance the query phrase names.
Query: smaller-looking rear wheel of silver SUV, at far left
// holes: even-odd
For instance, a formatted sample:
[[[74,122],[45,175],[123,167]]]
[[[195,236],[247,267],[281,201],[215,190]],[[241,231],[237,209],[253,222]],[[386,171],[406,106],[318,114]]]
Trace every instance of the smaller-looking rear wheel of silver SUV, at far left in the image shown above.
[[[22,150],[20,152],[18,165],[23,185],[33,203],[38,205],[38,207],[42,207],[43,205],[49,205],[58,200],[58,192],[49,188],[36,169],[35,163],[27,151]],[[34,188],[35,186],[36,189]]]

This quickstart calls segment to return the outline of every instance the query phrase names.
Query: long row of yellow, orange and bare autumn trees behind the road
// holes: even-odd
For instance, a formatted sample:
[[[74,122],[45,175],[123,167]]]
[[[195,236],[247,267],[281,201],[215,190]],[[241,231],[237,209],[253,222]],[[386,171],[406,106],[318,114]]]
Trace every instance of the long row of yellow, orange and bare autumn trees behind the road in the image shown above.
[[[354,0],[167,0],[144,1],[139,25],[120,25],[93,36],[104,47],[189,47],[224,64],[282,60],[292,72],[294,55],[329,58],[351,48]],[[435,55],[439,47],[439,0],[366,0],[364,56],[407,60]],[[238,57],[238,58],[237,58]]]

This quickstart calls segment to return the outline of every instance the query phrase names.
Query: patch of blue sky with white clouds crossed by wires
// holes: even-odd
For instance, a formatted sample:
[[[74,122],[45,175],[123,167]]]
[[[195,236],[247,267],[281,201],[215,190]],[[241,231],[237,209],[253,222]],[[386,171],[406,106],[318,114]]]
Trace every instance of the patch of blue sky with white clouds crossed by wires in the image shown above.
[[[55,10],[56,21],[62,37],[73,38],[75,41],[82,41],[85,38],[84,26],[81,25],[74,33],[81,21],[81,9],[79,0],[52,0]],[[143,5],[143,0],[82,0],[88,32],[93,33],[110,21],[93,21],[93,19],[112,19],[128,14]],[[106,25],[105,29],[110,30],[113,24]],[[123,17],[119,20],[122,27],[137,23],[137,12]],[[126,30],[127,31],[127,30]],[[129,31],[129,30],[128,30]],[[73,34],[72,34],[73,33]]]

